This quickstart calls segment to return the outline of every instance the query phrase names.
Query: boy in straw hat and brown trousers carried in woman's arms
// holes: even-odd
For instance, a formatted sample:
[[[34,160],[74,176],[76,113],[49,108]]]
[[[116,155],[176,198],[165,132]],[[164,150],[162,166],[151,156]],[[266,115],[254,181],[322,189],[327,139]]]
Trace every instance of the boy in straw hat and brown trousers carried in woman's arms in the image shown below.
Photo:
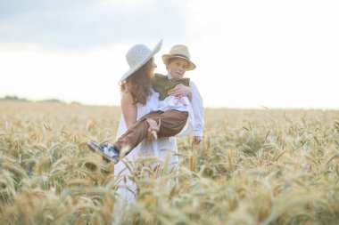
[[[127,155],[130,150],[137,146],[137,144],[144,141],[146,136],[150,137],[150,133],[154,132],[156,132],[159,137],[171,137],[178,133],[186,134],[186,132],[190,130],[189,127],[194,126],[198,127],[198,129],[194,128],[194,144],[201,141],[201,137],[203,135],[203,125],[201,123],[203,109],[201,108],[201,111],[196,113],[192,111],[191,103],[187,97],[175,97],[169,95],[169,93],[178,95],[178,92],[180,91],[179,89],[181,88],[182,90],[182,86],[177,86],[177,84],[183,84],[186,86],[191,84],[189,78],[183,78],[186,70],[192,70],[195,68],[194,63],[190,61],[188,49],[184,45],[175,45],[170,50],[170,54],[162,56],[162,60],[166,65],[169,75],[161,76],[159,74],[155,74],[154,76],[153,88],[156,92],[160,93],[158,110],[141,117],[113,144],[98,145],[95,141],[88,142],[88,148],[95,151],[95,153],[102,155],[106,161],[114,160],[117,163],[120,159],[121,149],[127,148]],[[124,80],[121,82],[123,81]],[[197,92],[195,85],[192,91],[198,95],[196,97],[193,97],[192,94],[190,95],[190,98],[194,100],[194,108],[198,108],[196,103],[201,103],[201,106],[203,106],[202,101],[198,102],[198,100],[202,100],[202,98],[199,92]],[[200,121],[200,124],[198,123],[201,125],[200,130],[199,125],[193,125],[193,115],[197,115],[198,121]],[[189,118],[188,121],[187,118]],[[156,120],[159,121],[159,125],[156,124]],[[188,122],[188,128],[186,122]],[[198,133],[195,133],[195,130],[197,130]],[[195,134],[198,135],[195,136]],[[156,138],[157,135],[154,135],[154,137]]]

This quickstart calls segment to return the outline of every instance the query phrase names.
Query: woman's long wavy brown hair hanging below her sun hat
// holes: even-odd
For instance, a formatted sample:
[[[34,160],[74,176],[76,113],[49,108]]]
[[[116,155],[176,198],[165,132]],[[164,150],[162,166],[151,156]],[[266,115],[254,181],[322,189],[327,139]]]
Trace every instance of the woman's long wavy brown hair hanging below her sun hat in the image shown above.
[[[125,82],[120,85],[121,92],[130,92],[134,104],[145,105],[147,97],[152,93],[153,82],[153,58],[144,66],[137,69]]]

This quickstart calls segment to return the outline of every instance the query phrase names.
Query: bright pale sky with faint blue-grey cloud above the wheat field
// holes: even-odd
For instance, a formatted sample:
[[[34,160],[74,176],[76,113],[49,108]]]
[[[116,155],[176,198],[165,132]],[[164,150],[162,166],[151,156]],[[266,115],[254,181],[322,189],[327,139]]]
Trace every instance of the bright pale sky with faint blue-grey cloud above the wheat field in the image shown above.
[[[0,97],[119,105],[125,54],[186,44],[205,107],[339,108],[337,0],[0,0]]]

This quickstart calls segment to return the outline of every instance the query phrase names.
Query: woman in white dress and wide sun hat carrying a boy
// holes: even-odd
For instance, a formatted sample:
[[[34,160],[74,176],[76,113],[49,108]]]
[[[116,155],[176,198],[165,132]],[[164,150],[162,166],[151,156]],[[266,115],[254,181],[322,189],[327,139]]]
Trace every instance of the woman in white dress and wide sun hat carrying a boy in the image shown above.
[[[161,43],[162,41],[154,47],[153,51],[144,44],[136,44],[127,52],[126,59],[129,69],[120,79],[122,116],[117,132],[118,138],[125,133],[129,126],[134,125],[136,120],[159,107],[159,93],[153,91],[152,82],[154,68],[156,68],[153,56],[160,51]],[[181,86],[182,95],[187,95],[190,92],[189,87]],[[150,126],[156,129],[154,123],[155,121],[149,122]],[[166,158],[170,167],[178,163],[178,156],[172,152],[161,151],[161,149],[177,151],[176,138],[142,141],[127,157],[114,166],[114,175],[120,179],[120,187],[117,192],[127,205],[130,205],[136,197],[136,185],[129,179],[131,171],[128,169],[133,168],[128,165],[132,165],[136,157],[152,155]]]

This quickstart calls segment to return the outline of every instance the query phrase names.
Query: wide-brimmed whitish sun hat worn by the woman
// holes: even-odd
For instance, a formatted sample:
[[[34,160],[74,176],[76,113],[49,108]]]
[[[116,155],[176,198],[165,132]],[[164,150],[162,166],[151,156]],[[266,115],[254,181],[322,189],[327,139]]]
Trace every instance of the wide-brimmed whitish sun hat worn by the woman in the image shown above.
[[[151,51],[145,44],[136,44],[131,47],[126,53],[126,60],[128,61],[129,69],[128,71],[120,78],[119,84],[131,76],[137,69],[145,65],[148,60],[161,50],[161,41],[155,45]]]

